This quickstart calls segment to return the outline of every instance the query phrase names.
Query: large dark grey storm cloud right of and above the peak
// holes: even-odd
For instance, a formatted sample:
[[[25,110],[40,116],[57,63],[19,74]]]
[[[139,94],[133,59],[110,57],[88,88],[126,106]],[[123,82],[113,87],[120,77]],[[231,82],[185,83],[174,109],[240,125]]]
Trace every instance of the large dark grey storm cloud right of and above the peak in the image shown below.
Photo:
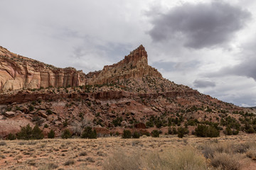
[[[187,3],[153,18],[149,35],[156,42],[178,38],[184,40],[186,47],[214,47],[229,42],[250,16],[248,11],[220,1]]]

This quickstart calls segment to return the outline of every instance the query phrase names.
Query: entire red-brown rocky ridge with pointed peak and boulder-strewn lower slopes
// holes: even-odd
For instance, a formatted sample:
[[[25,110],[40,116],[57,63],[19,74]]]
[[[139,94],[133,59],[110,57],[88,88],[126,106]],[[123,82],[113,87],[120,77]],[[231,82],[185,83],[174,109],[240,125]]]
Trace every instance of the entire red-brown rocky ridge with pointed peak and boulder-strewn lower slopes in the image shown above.
[[[192,125],[191,121],[225,126],[223,122],[231,119],[246,124],[240,118],[256,113],[164,79],[148,65],[142,45],[117,64],[88,74],[0,47],[0,87],[0,137],[28,123],[40,125],[45,134],[54,129],[60,135],[68,128],[79,135],[90,125],[107,135],[124,128],[168,132],[168,125]]]

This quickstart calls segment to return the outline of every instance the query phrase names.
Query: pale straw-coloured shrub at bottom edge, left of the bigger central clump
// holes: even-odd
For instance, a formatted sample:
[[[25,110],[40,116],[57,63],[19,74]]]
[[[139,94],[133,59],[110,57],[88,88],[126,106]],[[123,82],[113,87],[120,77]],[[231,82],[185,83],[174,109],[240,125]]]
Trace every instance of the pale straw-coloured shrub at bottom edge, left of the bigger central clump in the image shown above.
[[[125,151],[114,152],[112,157],[108,157],[103,163],[104,170],[139,170],[141,168],[141,157],[138,153],[132,155],[125,154]]]

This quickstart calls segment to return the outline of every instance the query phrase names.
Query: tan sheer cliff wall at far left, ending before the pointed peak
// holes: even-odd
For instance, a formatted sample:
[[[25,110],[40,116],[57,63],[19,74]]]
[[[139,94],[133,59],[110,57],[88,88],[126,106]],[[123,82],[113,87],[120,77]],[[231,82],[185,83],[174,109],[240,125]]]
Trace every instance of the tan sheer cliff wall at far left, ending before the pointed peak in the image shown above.
[[[0,89],[39,89],[83,85],[82,72],[68,67],[60,69],[0,47]]]

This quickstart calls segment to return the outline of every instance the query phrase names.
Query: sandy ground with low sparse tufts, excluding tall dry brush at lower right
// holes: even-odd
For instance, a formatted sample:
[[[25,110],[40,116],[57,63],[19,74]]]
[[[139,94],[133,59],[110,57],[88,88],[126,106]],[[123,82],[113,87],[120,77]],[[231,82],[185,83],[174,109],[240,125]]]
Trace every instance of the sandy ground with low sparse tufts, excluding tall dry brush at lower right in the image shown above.
[[[141,137],[128,140],[121,137],[100,137],[97,140],[3,140],[0,141],[0,169],[46,169],[46,166],[55,166],[56,169],[102,169],[103,162],[117,150],[127,154],[138,151],[162,152],[167,148],[197,147],[217,140],[238,143],[254,142],[255,139],[256,135],[217,138],[188,136],[182,139],[174,135],[164,135],[159,138]],[[256,169],[256,164],[250,161],[242,169]]]

